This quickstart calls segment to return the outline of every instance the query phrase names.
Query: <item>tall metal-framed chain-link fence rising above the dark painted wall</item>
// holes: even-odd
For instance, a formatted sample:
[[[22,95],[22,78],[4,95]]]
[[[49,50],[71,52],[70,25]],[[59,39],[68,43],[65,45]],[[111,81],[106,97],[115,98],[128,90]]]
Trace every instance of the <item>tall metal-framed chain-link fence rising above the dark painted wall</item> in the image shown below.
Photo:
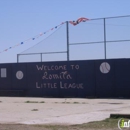
[[[18,62],[130,57],[130,15],[62,25],[48,38],[17,55]]]

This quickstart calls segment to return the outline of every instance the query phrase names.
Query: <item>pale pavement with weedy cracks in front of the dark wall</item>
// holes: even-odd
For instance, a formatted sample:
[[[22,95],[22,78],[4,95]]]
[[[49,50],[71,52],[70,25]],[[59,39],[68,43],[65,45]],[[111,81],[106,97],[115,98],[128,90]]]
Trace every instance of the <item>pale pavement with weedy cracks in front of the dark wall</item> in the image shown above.
[[[83,124],[130,114],[126,99],[0,97],[0,123]]]

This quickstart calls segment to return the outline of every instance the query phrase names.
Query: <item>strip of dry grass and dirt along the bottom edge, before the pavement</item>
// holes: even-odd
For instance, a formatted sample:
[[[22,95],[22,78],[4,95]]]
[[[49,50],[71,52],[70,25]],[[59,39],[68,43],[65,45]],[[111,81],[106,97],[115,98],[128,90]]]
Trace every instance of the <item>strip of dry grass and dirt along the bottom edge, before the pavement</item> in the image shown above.
[[[108,118],[103,121],[94,121],[81,125],[0,124],[0,130],[119,130],[117,125],[119,119]]]

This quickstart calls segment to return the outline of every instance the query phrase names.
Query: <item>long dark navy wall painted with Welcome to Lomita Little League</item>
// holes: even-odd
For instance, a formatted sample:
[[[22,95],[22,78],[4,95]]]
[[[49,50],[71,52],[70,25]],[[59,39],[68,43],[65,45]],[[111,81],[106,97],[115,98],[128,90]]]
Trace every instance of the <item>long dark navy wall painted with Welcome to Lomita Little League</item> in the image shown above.
[[[0,64],[0,95],[130,98],[130,59]]]

